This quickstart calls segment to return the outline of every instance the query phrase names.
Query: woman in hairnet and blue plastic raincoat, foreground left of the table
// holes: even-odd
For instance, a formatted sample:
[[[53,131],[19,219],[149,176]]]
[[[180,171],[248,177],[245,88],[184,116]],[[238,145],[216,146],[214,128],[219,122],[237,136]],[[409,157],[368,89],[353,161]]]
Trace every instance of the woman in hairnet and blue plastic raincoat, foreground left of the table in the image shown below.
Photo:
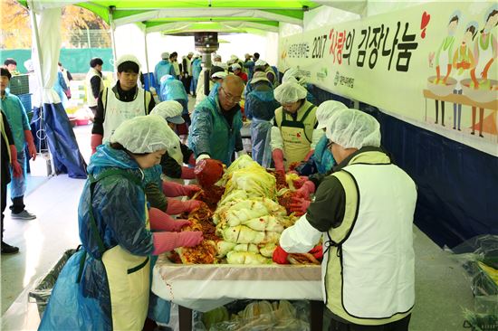
[[[202,232],[179,232],[185,221],[148,216],[143,170],[171,146],[167,130],[154,115],[126,120],[91,156],[78,208],[82,249],[59,275],[40,330],[141,330],[149,255],[203,240]]]

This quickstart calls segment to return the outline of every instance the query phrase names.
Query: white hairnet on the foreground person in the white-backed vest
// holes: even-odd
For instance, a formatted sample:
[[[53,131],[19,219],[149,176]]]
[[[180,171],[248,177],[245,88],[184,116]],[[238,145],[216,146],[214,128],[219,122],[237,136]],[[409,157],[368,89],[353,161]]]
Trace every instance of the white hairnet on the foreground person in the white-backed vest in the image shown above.
[[[344,148],[380,146],[380,125],[377,119],[357,109],[339,109],[329,119],[326,135]]]

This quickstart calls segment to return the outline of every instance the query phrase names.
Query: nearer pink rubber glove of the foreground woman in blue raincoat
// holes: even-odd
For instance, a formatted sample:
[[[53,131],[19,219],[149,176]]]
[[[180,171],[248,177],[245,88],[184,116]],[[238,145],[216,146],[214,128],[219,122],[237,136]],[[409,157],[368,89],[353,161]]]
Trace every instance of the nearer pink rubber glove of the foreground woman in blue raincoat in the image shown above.
[[[154,232],[154,251],[152,255],[159,255],[165,251],[173,251],[177,247],[193,247],[203,241],[204,237],[200,231],[186,232]]]

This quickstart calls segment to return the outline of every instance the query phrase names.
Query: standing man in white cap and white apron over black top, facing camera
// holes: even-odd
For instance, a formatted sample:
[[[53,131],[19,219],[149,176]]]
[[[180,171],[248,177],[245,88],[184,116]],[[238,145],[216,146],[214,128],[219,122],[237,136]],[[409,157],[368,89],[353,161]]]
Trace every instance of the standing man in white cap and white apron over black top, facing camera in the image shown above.
[[[109,137],[120,124],[129,118],[147,115],[156,106],[149,91],[137,84],[140,63],[131,54],[116,61],[118,81],[113,88],[105,88],[99,94],[97,112],[91,128],[91,153],[109,141]]]

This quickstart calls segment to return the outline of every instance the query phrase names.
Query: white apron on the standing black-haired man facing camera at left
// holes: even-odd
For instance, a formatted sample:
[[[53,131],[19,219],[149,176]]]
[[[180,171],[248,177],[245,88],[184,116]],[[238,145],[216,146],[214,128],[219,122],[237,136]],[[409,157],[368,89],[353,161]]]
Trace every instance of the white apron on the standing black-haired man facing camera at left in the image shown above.
[[[107,88],[103,91],[105,95],[104,103],[104,137],[102,142],[105,144],[109,141],[110,135],[120,126],[122,122],[137,116],[147,115],[147,107],[145,102],[145,90],[137,88],[139,92],[137,97],[130,102],[123,102],[116,98],[112,89]]]

